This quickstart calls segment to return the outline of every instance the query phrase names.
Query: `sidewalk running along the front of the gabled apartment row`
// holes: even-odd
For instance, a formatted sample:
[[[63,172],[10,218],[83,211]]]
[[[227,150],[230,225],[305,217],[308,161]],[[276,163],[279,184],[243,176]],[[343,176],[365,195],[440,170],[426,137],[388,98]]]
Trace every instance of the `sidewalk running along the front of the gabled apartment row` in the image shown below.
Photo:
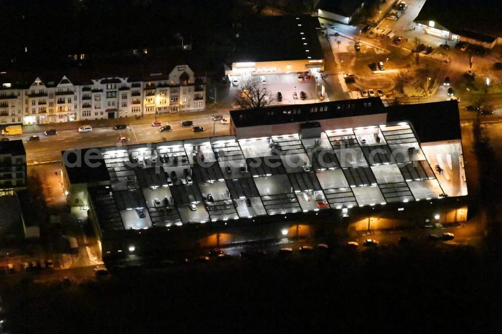
[[[211,116],[215,114],[226,114],[230,109],[218,109],[217,104],[211,103],[206,106],[206,110],[196,112],[177,112],[177,113],[162,113],[157,115],[157,119],[165,122],[182,121],[200,116]],[[84,120],[75,122],[61,122],[48,124],[23,125],[23,133],[44,132],[50,129],[60,130],[76,130],[81,125],[90,125],[92,127],[113,126],[115,124],[149,124],[155,120],[155,115],[145,115],[140,117],[124,117],[112,119],[96,119]]]

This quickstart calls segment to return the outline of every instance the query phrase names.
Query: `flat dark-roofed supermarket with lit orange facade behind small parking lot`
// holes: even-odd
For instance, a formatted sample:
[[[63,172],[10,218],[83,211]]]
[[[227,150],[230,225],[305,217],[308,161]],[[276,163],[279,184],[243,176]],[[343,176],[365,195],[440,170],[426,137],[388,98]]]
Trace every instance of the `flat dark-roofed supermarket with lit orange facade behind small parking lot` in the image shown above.
[[[236,48],[226,61],[230,76],[324,70],[320,25],[310,16],[249,19],[237,31]]]

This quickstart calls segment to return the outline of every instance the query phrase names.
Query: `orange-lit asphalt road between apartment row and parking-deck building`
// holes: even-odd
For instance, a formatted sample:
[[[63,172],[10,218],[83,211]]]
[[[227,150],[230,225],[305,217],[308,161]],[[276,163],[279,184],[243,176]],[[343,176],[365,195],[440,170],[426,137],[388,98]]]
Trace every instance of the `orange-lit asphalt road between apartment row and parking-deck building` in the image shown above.
[[[70,148],[86,148],[112,146],[117,144],[119,136],[126,136],[131,139],[130,144],[181,140],[188,138],[202,138],[210,136],[228,135],[230,128],[228,124],[221,124],[219,121],[213,122],[210,116],[189,117],[182,120],[192,120],[194,126],[204,127],[202,132],[193,132],[190,127],[182,127],[180,121],[163,122],[163,125],[170,124],[172,129],[169,132],[159,132],[158,127],[153,127],[151,123],[129,125],[125,130],[114,130],[112,127],[93,127],[91,132],[79,133],[74,130],[60,130],[58,134],[46,136],[43,133],[28,133],[13,135],[11,140],[22,139],[27,152],[27,162],[44,163],[61,160],[61,150]],[[31,135],[39,135],[40,140],[29,141]]]

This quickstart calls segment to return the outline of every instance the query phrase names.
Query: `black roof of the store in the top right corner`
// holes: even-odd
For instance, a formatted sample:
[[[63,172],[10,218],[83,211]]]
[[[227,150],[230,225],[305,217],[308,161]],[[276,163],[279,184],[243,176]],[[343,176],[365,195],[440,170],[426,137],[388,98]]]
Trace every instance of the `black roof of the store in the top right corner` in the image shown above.
[[[452,10],[445,10],[451,8]],[[415,22],[434,21],[456,34],[462,30],[502,36],[502,2],[485,0],[427,0]],[[467,36],[467,35],[465,35]]]

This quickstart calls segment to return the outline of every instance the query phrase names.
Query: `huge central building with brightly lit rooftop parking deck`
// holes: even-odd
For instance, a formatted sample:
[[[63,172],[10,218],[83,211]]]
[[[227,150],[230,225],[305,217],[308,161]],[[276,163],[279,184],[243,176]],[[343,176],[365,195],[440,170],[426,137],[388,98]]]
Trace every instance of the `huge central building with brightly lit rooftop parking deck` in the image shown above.
[[[298,237],[316,218],[364,231],[382,228],[373,219],[467,219],[456,101],[386,108],[367,98],[242,113],[230,114],[235,135],[63,152],[95,152],[92,167],[62,169],[69,198],[71,175],[87,184],[78,196],[105,261]]]

